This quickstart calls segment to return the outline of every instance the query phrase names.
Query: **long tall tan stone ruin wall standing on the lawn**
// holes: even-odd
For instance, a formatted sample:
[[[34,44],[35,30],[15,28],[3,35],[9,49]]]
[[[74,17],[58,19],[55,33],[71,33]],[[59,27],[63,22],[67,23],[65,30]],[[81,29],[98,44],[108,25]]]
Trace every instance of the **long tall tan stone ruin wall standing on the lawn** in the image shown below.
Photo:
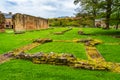
[[[15,32],[48,28],[48,20],[40,17],[17,13],[12,20]]]

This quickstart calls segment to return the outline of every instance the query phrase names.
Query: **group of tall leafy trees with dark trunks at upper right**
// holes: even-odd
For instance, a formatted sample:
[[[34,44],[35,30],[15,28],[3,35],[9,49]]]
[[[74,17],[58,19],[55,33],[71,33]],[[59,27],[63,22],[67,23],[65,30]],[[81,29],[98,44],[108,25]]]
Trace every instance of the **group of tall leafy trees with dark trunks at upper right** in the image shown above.
[[[109,29],[110,23],[116,22],[116,29],[119,25],[119,15],[120,15],[120,2],[119,0],[74,0],[75,4],[80,3],[79,13],[88,13],[93,16],[93,24],[95,24],[96,18],[105,18],[106,29]],[[112,15],[112,16],[111,16]],[[113,16],[116,18],[112,19]]]

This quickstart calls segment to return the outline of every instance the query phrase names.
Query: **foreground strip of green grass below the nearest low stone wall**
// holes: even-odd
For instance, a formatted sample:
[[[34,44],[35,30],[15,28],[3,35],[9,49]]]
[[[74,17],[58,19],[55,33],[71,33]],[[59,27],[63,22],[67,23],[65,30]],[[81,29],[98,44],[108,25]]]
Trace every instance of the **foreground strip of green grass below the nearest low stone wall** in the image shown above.
[[[8,67],[6,67],[8,66]],[[12,60],[0,65],[0,80],[119,80],[120,74]]]

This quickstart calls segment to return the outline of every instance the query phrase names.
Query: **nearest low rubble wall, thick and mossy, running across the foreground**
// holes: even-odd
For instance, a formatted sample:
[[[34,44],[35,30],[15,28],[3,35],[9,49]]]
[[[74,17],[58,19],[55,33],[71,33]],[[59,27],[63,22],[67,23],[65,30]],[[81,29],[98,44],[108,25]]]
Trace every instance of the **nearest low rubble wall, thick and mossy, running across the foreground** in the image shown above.
[[[90,70],[109,70],[109,67],[102,63],[93,63],[88,60],[82,60],[76,58],[72,54],[56,54],[56,53],[36,53],[36,54],[25,54],[20,53],[15,56],[17,59],[24,59],[32,61],[35,64],[52,64],[52,65],[65,65],[73,68],[83,68]],[[106,63],[105,63],[106,64]]]

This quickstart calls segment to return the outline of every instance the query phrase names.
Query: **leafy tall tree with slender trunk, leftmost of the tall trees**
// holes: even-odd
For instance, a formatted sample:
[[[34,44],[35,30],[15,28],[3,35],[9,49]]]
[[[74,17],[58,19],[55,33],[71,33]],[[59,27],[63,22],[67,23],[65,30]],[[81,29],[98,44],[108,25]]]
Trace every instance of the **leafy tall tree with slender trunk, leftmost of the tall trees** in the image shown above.
[[[100,0],[74,0],[74,4],[80,4],[81,12],[89,13],[93,16],[93,26],[95,27],[95,19],[99,13]]]

